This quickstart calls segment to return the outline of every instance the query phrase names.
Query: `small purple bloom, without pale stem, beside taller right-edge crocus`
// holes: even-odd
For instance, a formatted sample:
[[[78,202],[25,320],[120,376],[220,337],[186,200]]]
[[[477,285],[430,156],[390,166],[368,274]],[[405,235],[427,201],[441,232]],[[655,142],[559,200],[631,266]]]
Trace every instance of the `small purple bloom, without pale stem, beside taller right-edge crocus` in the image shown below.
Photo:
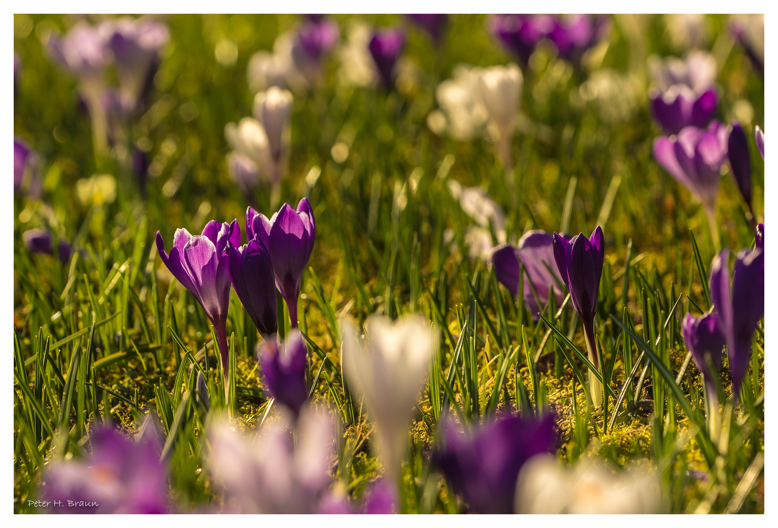
[[[708,361],[713,365],[713,368],[721,367],[724,333],[722,333],[719,318],[712,313],[695,317],[687,312],[683,319],[681,333],[686,348],[692,353],[697,369],[703,375],[708,387],[708,394],[711,395],[711,398],[715,398],[716,385],[713,383],[713,376],[717,374],[710,371]]]

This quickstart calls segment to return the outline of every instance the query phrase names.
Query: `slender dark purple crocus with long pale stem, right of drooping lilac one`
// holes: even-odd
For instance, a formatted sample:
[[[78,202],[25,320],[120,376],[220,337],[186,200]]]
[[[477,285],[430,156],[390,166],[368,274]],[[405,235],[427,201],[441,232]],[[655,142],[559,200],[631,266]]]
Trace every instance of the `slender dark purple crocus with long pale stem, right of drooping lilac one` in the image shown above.
[[[554,259],[559,275],[570,292],[573,308],[584,323],[584,336],[589,361],[600,370],[597,343],[594,340],[594,315],[597,313],[597,296],[600,290],[602,263],[605,259],[605,237],[600,226],[591,238],[583,233],[576,234],[569,241],[554,233]],[[594,372],[589,371],[589,385],[594,406],[601,405],[602,383]]]

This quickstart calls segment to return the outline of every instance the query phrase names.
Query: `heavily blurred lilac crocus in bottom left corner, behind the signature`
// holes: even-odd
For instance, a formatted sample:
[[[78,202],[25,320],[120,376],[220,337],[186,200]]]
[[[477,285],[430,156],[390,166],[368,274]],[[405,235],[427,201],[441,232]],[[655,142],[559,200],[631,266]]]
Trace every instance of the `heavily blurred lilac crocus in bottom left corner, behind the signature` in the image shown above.
[[[159,460],[159,435],[149,420],[137,443],[111,428],[89,438],[83,459],[54,462],[43,475],[40,493],[58,501],[54,513],[166,513],[167,470]]]

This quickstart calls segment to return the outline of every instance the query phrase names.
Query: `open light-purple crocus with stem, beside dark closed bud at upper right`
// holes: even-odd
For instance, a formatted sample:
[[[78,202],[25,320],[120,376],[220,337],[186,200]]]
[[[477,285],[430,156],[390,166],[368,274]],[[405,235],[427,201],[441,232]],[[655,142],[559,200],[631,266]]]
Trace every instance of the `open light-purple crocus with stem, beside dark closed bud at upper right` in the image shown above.
[[[654,157],[673,178],[703,202],[713,245],[720,247],[716,225],[716,195],[720,169],[727,160],[727,127],[715,119],[708,128],[687,126],[678,136],[654,139]]]

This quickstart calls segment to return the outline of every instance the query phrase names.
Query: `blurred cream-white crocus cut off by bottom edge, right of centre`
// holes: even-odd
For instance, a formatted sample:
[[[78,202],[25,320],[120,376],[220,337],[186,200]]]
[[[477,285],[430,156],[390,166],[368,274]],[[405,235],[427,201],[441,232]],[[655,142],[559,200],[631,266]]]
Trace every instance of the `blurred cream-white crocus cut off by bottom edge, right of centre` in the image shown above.
[[[538,455],[519,473],[513,507],[517,513],[659,513],[661,496],[646,470],[613,473],[596,461],[569,470],[555,456]]]

